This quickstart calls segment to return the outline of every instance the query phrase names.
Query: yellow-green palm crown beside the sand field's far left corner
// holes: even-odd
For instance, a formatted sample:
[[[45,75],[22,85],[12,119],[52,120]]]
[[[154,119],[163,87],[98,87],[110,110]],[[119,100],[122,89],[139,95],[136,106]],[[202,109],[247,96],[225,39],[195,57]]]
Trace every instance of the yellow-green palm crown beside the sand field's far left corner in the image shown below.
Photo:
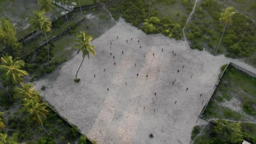
[[[40,98],[40,95],[34,89],[34,85],[24,83],[21,83],[21,88],[16,88],[16,96],[22,96],[24,99]]]

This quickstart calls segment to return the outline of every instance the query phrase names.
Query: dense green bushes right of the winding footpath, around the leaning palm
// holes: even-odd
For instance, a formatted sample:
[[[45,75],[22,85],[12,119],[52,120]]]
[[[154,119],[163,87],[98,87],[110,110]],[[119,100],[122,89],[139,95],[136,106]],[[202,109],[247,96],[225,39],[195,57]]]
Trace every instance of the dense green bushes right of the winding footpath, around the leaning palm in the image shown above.
[[[221,13],[225,7],[216,0],[203,0],[200,3],[187,26],[187,37],[191,48],[203,50],[208,48],[214,52],[224,31],[224,23],[220,21]],[[256,36],[253,30],[254,22],[241,13],[235,13],[221,41],[218,53],[226,56],[249,57],[256,50]]]

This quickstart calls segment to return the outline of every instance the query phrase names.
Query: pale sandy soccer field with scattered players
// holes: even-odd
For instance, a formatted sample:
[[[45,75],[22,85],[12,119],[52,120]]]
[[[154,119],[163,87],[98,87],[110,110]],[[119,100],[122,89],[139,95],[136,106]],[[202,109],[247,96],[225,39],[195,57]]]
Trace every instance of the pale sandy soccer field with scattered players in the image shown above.
[[[93,45],[96,56],[85,59],[80,83],[74,78],[82,54],[74,53],[36,88],[47,85],[41,95],[98,144],[189,144],[192,128],[203,123],[195,123],[202,102],[210,98],[220,67],[231,61],[192,50],[184,41],[146,35],[123,19]]]

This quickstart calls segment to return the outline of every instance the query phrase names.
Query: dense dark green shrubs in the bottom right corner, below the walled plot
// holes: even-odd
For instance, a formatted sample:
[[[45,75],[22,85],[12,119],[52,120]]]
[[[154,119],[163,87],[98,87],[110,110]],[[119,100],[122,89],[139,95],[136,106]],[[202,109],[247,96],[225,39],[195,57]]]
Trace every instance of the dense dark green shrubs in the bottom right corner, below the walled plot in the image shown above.
[[[209,123],[200,131],[198,126],[192,131],[193,144],[241,144],[243,139],[256,144],[256,125],[251,123],[231,123],[224,120],[217,120]]]

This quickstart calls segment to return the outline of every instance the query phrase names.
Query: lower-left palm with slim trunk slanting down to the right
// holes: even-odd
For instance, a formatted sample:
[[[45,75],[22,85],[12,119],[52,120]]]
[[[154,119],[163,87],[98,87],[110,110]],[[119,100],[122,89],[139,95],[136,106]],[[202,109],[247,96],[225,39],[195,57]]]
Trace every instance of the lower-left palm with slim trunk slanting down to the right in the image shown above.
[[[38,124],[43,127],[43,119],[46,118],[46,115],[48,114],[47,104],[46,103],[39,103],[38,100],[34,99],[25,99],[25,104],[23,104],[24,107],[22,108],[23,112],[28,112],[28,121],[33,122],[37,121]],[[45,130],[45,132],[49,135],[49,133]]]

